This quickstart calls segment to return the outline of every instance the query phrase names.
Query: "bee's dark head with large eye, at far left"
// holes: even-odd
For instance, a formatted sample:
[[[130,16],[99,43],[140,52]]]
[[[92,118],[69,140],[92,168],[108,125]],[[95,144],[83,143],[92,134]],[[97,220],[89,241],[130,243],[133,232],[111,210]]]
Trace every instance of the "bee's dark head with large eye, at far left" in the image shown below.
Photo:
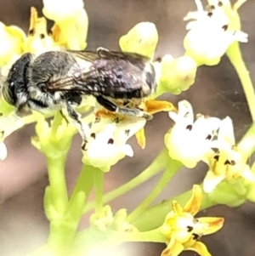
[[[21,108],[28,100],[27,93],[27,70],[30,65],[32,54],[23,54],[8,72],[8,78],[3,83],[3,98],[10,105]]]

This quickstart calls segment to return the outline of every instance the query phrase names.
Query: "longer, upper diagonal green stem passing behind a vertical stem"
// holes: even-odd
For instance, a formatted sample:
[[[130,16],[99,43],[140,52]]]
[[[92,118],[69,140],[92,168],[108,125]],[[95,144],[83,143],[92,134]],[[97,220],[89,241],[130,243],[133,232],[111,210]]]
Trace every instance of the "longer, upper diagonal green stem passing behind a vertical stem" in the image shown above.
[[[169,158],[168,151],[165,148],[160,152],[158,156],[156,156],[154,161],[150,163],[150,166],[144,169],[144,171],[141,174],[139,174],[138,176],[136,176],[126,184],[120,186],[116,190],[105,194],[105,196],[103,196],[103,203],[105,204],[107,202],[111,202],[118,196],[122,196],[128,191],[133,190],[135,187],[141,185],[146,180],[158,174],[163,168],[166,167],[168,158]],[[88,211],[92,210],[93,208],[94,208],[94,202],[90,202],[85,206],[83,213],[88,213]]]

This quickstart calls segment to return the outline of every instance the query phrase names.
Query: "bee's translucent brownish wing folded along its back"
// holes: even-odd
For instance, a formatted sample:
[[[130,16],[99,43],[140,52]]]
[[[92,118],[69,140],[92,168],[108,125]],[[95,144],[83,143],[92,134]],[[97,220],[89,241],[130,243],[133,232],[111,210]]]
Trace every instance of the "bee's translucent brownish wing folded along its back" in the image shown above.
[[[144,63],[149,61],[139,54],[109,51],[70,51],[83,66],[63,82],[49,85],[51,90],[76,89],[84,94],[101,93],[105,96],[125,96],[142,87]],[[66,81],[66,82],[64,82]]]

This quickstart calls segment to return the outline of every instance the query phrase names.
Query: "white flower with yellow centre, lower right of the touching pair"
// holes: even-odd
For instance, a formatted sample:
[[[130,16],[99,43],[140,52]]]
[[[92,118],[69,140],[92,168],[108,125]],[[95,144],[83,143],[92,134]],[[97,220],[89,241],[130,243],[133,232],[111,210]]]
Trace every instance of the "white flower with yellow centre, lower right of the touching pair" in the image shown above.
[[[246,156],[235,146],[233,123],[229,117],[224,118],[218,131],[218,139],[213,141],[214,151],[207,153],[205,162],[209,171],[203,182],[204,191],[210,193],[224,179],[244,178],[255,181]],[[215,152],[215,149],[217,150]]]

